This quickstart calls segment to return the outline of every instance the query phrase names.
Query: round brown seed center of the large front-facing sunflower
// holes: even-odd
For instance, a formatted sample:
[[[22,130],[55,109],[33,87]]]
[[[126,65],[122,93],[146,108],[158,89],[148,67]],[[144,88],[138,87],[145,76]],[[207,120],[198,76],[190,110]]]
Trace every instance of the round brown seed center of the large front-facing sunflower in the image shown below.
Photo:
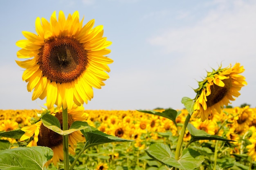
[[[83,44],[72,37],[56,37],[46,41],[38,56],[43,75],[56,83],[74,81],[88,63]]]

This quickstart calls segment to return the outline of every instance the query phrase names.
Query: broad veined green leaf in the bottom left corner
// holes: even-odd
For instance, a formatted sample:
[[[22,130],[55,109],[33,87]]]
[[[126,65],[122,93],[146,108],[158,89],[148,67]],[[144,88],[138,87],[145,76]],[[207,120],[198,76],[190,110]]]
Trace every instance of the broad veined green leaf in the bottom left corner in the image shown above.
[[[43,146],[0,150],[1,170],[43,170],[53,151]]]

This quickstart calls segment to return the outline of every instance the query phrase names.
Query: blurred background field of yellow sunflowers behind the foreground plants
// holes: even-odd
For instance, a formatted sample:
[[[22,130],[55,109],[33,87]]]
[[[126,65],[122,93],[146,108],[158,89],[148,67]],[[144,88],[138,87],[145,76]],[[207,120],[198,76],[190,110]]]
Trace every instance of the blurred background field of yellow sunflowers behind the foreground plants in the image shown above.
[[[162,112],[164,110],[157,110]],[[21,129],[31,125],[40,110],[0,110],[0,132]],[[134,110],[85,110],[88,113],[87,122],[99,131],[133,142],[110,143],[94,146],[86,151],[76,162],[76,168],[87,164],[90,170],[165,170],[166,166],[149,157],[145,150],[151,144],[164,143],[175,150],[179,131],[188,112],[180,110],[173,121],[152,114]],[[199,140],[190,143],[191,135],[186,131],[184,146],[197,150],[204,156],[202,165],[198,168],[247,170],[256,168],[256,108],[235,107],[223,109],[221,114],[213,112],[209,120],[200,121],[191,118],[190,123],[210,135],[218,135],[231,141]],[[8,141],[8,142],[6,142]],[[0,149],[14,148],[22,145],[17,139],[0,137]],[[76,153],[83,147],[79,142]],[[72,161],[72,154],[70,154]],[[62,167],[58,162],[57,167]],[[49,165],[48,168],[51,168]],[[168,169],[168,168],[167,168]]]

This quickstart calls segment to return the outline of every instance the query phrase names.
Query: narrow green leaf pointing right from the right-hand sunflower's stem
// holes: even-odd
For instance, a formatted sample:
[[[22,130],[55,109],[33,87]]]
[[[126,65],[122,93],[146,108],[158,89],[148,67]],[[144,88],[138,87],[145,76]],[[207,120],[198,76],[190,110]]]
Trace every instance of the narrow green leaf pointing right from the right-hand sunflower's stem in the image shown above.
[[[225,139],[224,137],[217,136],[217,135],[210,135],[206,131],[198,130],[190,123],[188,124],[187,128],[191,135],[190,143],[198,140],[222,140],[222,141],[234,142],[234,140]]]

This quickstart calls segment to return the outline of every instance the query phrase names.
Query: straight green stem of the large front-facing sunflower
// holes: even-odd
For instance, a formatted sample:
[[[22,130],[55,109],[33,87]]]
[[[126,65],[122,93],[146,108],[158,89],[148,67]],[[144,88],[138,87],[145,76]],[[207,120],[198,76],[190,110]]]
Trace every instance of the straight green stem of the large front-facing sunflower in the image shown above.
[[[63,106],[62,106],[62,120],[63,120],[62,130],[66,131],[68,130],[67,108],[63,109]],[[69,170],[68,135],[63,135],[63,153],[64,153],[64,170]]]

